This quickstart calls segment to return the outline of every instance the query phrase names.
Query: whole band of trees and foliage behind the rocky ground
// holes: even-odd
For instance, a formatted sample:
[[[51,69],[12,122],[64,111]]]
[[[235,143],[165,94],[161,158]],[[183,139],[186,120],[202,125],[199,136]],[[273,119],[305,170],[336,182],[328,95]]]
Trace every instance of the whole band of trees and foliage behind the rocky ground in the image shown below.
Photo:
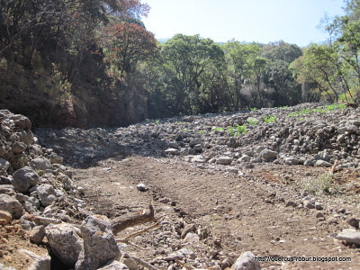
[[[356,102],[359,0],[328,21],[328,43],[305,49],[184,34],[159,44],[140,20],[148,8],[139,0],[0,0],[0,106],[42,124],[89,126]]]

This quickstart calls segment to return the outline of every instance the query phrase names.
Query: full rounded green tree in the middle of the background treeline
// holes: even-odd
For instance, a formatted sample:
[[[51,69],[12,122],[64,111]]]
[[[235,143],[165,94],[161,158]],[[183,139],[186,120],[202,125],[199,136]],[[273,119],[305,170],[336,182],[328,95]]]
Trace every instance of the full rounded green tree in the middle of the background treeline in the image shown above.
[[[220,46],[199,35],[175,35],[161,46],[165,83],[173,112],[199,112],[200,95],[203,94],[204,74],[209,68],[224,62]]]

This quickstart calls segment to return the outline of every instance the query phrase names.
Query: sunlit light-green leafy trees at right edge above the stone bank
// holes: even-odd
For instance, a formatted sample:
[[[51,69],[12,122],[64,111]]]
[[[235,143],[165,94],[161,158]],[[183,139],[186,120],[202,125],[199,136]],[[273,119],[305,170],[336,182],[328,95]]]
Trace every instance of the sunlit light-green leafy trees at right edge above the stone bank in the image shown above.
[[[345,2],[347,14],[325,25],[329,41],[312,44],[292,64],[298,82],[306,85],[307,99],[360,101],[360,1]]]

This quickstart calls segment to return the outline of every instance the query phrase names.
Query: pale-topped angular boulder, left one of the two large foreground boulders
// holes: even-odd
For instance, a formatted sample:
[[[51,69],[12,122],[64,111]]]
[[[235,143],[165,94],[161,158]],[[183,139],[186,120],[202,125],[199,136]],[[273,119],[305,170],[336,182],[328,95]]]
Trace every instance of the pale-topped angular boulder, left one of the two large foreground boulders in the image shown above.
[[[53,255],[69,268],[74,268],[80,251],[83,249],[83,239],[80,238],[73,225],[61,223],[46,227],[46,238]]]

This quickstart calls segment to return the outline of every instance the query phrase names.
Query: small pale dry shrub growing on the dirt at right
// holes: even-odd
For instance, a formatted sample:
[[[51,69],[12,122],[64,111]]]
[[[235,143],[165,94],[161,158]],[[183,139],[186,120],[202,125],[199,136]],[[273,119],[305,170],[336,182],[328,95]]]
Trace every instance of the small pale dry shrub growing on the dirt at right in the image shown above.
[[[303,178],[301,185],[304,191],[316,195],[337,193],[334,177],[330,173],[318,175],[316,178]]]

